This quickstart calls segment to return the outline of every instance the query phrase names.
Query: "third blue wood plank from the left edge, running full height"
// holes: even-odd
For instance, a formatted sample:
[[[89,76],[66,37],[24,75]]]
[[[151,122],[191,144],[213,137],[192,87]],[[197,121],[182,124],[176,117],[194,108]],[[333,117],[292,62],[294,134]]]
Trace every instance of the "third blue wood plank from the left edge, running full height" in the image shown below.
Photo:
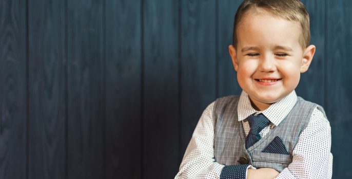
[[[104,1],[68,1],[68,178],[105,177]]]

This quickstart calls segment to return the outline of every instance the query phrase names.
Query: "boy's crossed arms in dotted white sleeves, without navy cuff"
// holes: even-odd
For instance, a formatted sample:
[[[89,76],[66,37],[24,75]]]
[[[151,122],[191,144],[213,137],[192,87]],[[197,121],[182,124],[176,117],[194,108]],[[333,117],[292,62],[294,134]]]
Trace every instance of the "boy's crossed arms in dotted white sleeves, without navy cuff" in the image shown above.
[[[213,103],[204,110],[175,179],[222,178],[225,166],[214,162],[213,159],[212,107]],[[292,152],[292,163],[281,173],[271,168],[246,169],[244,175],[242,172],[241,176],[234,178],[331,178],[330,126],[318,109],[313,115],[316,116],[312,116]]]

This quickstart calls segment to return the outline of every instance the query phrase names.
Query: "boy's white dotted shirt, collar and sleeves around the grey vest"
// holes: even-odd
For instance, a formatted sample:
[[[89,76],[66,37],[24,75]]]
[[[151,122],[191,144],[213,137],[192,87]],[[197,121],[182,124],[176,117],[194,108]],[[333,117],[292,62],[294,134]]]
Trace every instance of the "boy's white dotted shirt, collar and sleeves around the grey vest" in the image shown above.
[[[242,92],[238,105],[238,120],[242,121],[246,135],[250,130],[245,119],[252,114],[263,113],[270,123],[259,134],[264,137],[271,128],[280,124],[294,107],[297,101],[295,91],[285,98],[273,103],[264,111],[257,111],[251,104],[248,95]],[[179,178],[246,178],[248,165],[224,166],[214,159],[213,150],[213,112],[214,102],[209,104],[195,127],[187,146],[180,170],[175,176]],[[234,109],[236,110],[236,109]],[[331,148],[331,130],[328,120],[321,110],[316,108],[307,127],[302,131],[295,149],[292,151],[292,162],[276,178],[331,178],[333,155]],[[243,169],[244,168],[244,169]],[[242,170],[240,172],[239,170]],[[238,173],[236,177],[234,174]],[[241,175],[241,176],[240,176]]]

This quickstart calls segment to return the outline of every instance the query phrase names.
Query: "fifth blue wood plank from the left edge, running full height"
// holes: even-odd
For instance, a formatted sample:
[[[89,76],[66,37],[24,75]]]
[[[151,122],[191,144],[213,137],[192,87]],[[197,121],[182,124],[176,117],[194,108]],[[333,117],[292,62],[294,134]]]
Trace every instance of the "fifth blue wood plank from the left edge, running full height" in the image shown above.
[[[143,173],[144,178],[173,178],[179,168],[179,3],[143,4]]]

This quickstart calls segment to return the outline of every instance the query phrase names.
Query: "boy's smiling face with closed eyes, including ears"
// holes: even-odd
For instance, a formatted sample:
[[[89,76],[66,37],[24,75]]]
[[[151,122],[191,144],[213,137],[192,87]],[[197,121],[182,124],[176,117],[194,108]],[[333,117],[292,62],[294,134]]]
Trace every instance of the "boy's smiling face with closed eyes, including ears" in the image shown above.
[[[299,23],[273,16],[264,9],[249,12],[237,29],[236,49],[229,52],[241,88],[257,109],[264,110],[291,93],[315,53],[302,48]]]

